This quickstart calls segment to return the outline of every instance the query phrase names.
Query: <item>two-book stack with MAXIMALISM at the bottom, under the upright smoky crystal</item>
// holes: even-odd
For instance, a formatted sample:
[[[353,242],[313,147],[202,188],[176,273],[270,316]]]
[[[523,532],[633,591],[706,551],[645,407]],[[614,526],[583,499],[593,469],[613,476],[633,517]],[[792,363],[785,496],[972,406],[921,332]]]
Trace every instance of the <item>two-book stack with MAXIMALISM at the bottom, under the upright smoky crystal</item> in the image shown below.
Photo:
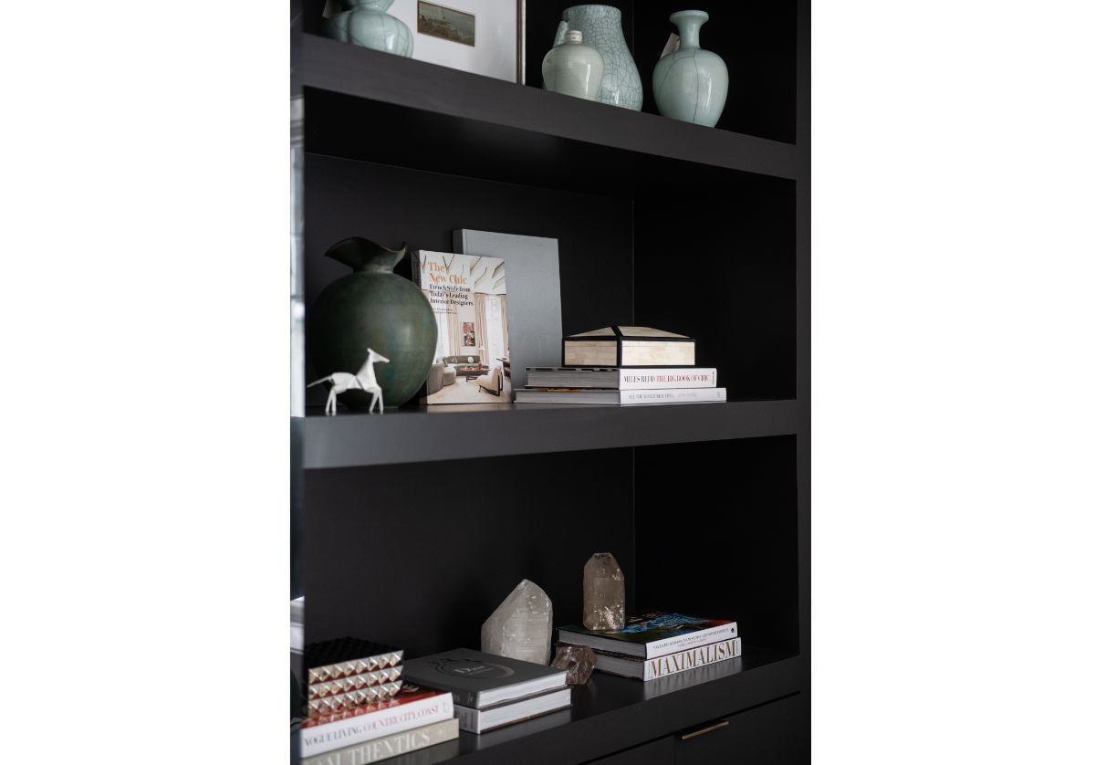
[[[643,681],[741,655],[737,621],[665,612],[629,616],[619,630],[560,627],[558,639],[591,648],[601,672]]]

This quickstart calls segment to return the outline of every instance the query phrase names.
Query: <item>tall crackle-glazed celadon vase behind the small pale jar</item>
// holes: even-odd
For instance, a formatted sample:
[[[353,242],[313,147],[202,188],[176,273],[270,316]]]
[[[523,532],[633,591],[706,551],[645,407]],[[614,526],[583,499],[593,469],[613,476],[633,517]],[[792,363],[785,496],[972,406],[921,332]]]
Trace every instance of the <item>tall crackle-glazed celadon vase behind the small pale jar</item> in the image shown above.
[[[563,11],[555,46],[563,44],[568,31],[581,32],[581,42],[597,48],[604,61],[597,100],[637,112],[643,107],[643,81],[627,49],[620,20],[620,9],[612,5],[573,5]]]

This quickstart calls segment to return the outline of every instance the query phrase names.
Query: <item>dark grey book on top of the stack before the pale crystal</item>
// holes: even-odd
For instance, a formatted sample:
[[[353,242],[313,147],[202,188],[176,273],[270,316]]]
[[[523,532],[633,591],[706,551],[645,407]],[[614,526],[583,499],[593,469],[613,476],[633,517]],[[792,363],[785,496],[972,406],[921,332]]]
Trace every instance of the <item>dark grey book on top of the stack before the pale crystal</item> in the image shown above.
[[[566,670],[495,656],[470,648],[404,662],[403,678],[449,690],[453,704],[473,709],[566,687]]]

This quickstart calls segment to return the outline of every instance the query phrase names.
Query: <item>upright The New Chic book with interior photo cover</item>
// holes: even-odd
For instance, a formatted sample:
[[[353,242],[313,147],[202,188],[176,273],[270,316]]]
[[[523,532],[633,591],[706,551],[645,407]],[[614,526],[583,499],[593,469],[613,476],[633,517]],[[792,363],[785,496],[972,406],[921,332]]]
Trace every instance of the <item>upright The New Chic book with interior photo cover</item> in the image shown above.
[[[418,250],[411,271],[437,321],[437,349],[423,403],[514,400],[506,262],[502,258]]]

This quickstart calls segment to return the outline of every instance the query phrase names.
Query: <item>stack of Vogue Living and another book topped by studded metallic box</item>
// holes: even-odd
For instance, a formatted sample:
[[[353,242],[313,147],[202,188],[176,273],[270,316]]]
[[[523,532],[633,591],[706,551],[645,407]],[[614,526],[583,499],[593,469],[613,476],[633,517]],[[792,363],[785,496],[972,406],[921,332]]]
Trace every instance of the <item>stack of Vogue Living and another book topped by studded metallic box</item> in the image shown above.
[[[359,765],[456,739],[452,694],[404,685],[403,651],[357,638],[304,647],[302,765]]]

